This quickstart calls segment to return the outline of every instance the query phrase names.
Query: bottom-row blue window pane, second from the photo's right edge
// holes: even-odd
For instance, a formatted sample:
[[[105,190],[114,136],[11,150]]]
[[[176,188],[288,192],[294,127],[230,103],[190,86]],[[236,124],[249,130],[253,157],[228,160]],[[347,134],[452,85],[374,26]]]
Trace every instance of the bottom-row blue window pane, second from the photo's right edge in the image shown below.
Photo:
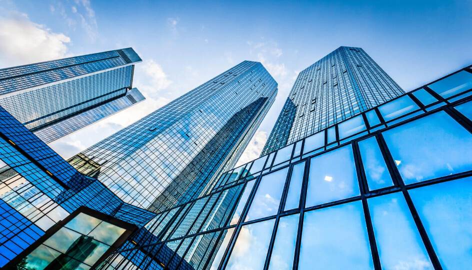
[[[401,193],[367,200],[383,269],[432,269]]]

